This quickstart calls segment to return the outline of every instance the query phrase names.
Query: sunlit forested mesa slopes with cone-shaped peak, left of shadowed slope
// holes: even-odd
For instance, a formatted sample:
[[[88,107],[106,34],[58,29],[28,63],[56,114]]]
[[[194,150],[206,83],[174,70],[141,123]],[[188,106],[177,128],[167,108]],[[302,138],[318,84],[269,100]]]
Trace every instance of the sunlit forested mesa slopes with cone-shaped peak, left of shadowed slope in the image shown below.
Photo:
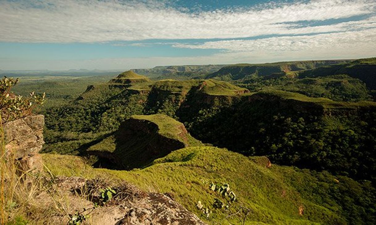
[[[141,86],[147,87],[143,89]],[[70,103],[46,110],[44,151],[80,153],[86,144],[114,132],[123,120],[134,114],[162,113],[177,119],[176,111],[188,95],[220,97],[243,92],[247,90],[214,80],[89,86]]]

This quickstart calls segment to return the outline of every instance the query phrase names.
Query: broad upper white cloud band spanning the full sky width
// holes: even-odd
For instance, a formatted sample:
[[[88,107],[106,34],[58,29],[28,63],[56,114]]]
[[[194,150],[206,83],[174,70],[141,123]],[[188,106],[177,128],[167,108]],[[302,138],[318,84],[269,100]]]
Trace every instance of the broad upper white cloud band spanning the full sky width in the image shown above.
[[[291,22],[375,13],[374,0],[311,0],[263,7],[189,13],[162,3],[53,0],[0,2],[0,41],[109,42],[144,39],[237,38],[268,34],[348,31],[375,26],[364,21],[291,27]]]

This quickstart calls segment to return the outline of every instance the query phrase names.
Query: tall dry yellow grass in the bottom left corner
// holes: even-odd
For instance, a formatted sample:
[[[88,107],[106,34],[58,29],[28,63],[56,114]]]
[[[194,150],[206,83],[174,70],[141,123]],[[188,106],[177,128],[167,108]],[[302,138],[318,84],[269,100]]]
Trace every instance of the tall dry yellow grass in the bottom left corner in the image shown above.
[[[68,213],[81,207],[82,202],[56,189],[51,173],[21,169],[20,163],[6,152],[1,123],[0,138],[0,224],[66,224]]]

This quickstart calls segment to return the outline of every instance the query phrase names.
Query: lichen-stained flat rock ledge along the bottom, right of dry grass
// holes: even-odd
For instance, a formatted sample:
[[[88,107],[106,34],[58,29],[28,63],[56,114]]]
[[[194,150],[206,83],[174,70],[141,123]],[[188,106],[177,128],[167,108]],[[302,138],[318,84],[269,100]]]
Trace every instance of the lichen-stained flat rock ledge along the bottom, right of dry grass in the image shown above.
[[[195,214],[186,210],[169,196],[145,192],[128,183],[108,184],[103,180],[85,180],[82,177],[57,177],[56,190],[69,199],[71,210],[91,207],[99,196],[99,189],[112,186],[116,194],[111,201],[94,209],[88,219],[93,225],[205,225]],[[87,193],[86,193],[87,192]],[[93,202],[83,199],[87,196]],[[77,204],[80,202],[80,204]],[[85,214],[85,213],[83,213]],[[66,224],[64,215],[54,218]]]

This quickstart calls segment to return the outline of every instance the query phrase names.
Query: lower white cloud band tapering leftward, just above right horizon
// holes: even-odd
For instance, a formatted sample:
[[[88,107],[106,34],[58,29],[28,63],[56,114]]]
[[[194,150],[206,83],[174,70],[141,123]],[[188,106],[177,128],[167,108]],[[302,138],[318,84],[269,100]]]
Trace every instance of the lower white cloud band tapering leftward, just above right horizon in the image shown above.
[[[191,45],[177,43],[176,48],[226,49],[228,52],[323,52],[351,51],[376,52],[376,28],[302,36],[269,37],[255,40],[220,40]]]

